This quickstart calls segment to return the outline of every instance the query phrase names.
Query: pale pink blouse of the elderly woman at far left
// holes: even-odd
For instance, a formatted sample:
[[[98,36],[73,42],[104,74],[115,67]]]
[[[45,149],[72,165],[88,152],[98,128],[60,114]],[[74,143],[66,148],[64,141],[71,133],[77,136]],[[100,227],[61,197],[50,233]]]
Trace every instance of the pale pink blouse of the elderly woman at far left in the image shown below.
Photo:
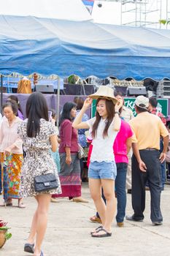
[[[9,122],[4,116],[0,128],[0,152],[4,152],[5,148],[15,145],[12,154],[23,154],[23,140],[18,136],[18,125],[23,122],[18,116],[9,127]]]

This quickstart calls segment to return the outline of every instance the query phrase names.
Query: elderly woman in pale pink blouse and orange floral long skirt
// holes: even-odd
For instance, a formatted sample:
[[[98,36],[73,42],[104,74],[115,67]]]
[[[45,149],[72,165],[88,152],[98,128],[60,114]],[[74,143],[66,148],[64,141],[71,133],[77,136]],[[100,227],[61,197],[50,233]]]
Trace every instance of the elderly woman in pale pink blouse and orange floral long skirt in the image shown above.
[[[16,116],[18,106],[15,102],[7,102],[2,106],[4,117],[0,128],[1,154],[1,188],[4,203],[1,206],[12,206],[12,198],[18,199],[18,207],[25,208],[18,191],[20,186],[20,169],[23,163],[22,140],[18,138],[18,125],[22,120]]]

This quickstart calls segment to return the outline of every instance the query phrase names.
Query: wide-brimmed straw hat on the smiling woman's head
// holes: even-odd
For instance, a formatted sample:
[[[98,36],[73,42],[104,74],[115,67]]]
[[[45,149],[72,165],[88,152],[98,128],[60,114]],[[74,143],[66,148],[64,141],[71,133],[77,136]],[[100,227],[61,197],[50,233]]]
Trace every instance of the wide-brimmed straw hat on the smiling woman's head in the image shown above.
[[[98,88],[98,91],[96,91],[95,94],[90,94],[88,97],[92,99],[98,99],[98,98],[110,99],[113,101],[114,104],[116,104],[117,102],[113,89],[108,86],[100,86]]]

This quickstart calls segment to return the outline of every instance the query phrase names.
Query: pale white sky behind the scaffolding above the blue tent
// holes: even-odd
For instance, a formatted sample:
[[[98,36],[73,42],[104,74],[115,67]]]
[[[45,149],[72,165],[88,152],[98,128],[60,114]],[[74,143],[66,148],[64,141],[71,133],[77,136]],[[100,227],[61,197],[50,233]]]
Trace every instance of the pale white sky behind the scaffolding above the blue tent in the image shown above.
[[[158,23],[160,19],[166,19],[166,3],[169,2],[169,18],[170,18],[170,0],[144,0],[147,2],[146,5],[142,4],[142,1],[137,4],[137,10],[133,10],[136,7],[136,4],[124,4],[122,6],[122,23],[128,23],[129,26],[134,25],[134,21],[137,20],[137,25],[144,24],[146,17],[146,24],[151,28],[156,29],[166,29],[166,26]],[[102,7],[98,7],[98,4],[102,4]],[[146,11],[145,11],[146,7]],[[144,15],[144,12],[147,12]],[[94,1],[92,18],[97,23],[110,23],[110,24],[121,24],[121,4],[120,2],[115,1]],[[140,22],[141,20],[141,22]],[[153,24],[152,24],[153,23]],[[157,23],[157,24],[155,24]]]

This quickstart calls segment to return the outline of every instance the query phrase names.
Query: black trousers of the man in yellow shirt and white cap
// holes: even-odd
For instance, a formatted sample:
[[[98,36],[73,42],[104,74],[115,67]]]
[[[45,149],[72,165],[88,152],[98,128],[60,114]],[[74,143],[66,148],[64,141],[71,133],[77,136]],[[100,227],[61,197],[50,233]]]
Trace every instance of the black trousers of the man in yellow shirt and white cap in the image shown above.
[[[162,222],[161,214],[161,164],[158,150],[140,150],[142,161],[147,166],[146,173],[139,169],[136,157],[132,156],[132,207],[134,219],[144,219],[145,208],[145,184],[148,181],[150,187],[150,219],[152,222]]]

